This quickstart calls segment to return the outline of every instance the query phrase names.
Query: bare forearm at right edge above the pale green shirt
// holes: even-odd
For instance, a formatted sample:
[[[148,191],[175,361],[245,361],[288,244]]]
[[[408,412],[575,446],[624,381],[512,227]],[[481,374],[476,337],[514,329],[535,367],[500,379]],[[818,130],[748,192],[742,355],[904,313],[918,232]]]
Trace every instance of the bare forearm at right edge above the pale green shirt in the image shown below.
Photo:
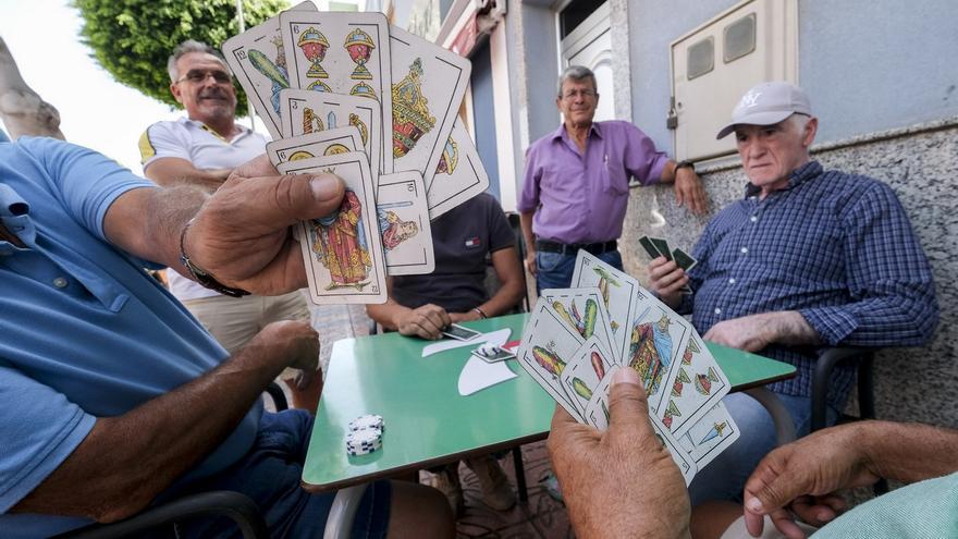
[[[891,421],[862,421],[857,428],[880,477],[916,482],[958,470],[958,430]]]

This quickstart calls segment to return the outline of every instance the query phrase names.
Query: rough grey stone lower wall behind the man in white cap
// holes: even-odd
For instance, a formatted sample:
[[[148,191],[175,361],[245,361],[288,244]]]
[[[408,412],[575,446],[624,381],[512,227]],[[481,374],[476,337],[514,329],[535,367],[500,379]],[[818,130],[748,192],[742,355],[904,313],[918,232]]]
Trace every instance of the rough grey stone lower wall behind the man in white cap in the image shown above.
[[[958,118],[815,146],[825,169],[867,174],[898,194],[931,260],[941,322],[921,348],[895,348],[876,358],[877,416],[958,427]],[[700,169],[711,211],[742,196],[738,160]],[[626,271],[647,280],[648,257],[637,240],[655,235],[691,249],[708,218],[675,205],[671,186],[637,187],[619,249]],[[690,252],[690,250],[689,250]],[[853,403],[849,405],[853,409]]]

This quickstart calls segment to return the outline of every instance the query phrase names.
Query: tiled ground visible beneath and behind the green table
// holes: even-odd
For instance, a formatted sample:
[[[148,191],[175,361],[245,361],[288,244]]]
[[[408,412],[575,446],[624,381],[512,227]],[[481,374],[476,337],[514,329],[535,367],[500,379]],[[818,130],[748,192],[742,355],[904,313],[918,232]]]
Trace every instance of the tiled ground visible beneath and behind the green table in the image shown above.
[[[322,345],[320,360],[329,362],[332,343],[340,339],[366,335],[369,333],[369,318],[361,305],[331,305],[312,307],[314,327],[319,332]],[[502,468],[515,486],[515,468],[512,453],[502,461]],[[460,538],[564,538],[573,537],[568,516],[561,502],[553,500],[539,483],[549,473],[549,456],[544,442],[523,448],[523,464],[526,471],[529,500],[516,504],[509,511],[493,511],[481,501],[476,476],[459,466],[459,477],[466,499],[466,512],[457,524]]]

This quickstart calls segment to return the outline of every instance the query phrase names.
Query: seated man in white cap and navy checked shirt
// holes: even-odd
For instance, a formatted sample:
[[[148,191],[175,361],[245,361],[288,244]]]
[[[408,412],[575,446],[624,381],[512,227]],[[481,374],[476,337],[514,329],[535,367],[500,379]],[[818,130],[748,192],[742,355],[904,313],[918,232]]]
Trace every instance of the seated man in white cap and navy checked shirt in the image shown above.
[[[825,171],[809,157],[818,119],[788,83],[751,88],[720,133],[735,132],[749,179],[746,196],[715,216],[686,275],[675,262],[649,266],[651,289],[692,314],[708,341],[798,368],[770,388],[798,436],[809,431],[818,346],[916,346],[937,323],[931,268],[895,193],[870,177]],[[683,285],[693,294],[683,296]],[[828,425],[844,409],[853,365],[836,368]],[[745,394],[724,400],[741,438],[696,476],[692,504],[730,500],[775,445],[765,409]]]

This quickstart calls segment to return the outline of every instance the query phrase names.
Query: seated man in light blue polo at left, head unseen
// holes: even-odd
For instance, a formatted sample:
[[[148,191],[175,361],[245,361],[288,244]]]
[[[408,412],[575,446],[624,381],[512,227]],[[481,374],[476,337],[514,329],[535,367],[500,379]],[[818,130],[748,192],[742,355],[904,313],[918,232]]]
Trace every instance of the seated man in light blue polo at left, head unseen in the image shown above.
[[[290,225],[343,194],[329,174],[280,177],[266,156],[209,196],[60,140],[0,144],[0,535],[48,537],[226,489],[251,498],[273,536],[320,537],[333,494],[299,486],[312,418],[263,413],[260,396],[286,367],[315,372],[316,332],[272,323],[231,356],[143,267],[234,294],[299,289]],[[374,483],[358,511],[368,536],[453,535],[425,487]],[[233,531],[221,526],[198,518],[180,535]]]

